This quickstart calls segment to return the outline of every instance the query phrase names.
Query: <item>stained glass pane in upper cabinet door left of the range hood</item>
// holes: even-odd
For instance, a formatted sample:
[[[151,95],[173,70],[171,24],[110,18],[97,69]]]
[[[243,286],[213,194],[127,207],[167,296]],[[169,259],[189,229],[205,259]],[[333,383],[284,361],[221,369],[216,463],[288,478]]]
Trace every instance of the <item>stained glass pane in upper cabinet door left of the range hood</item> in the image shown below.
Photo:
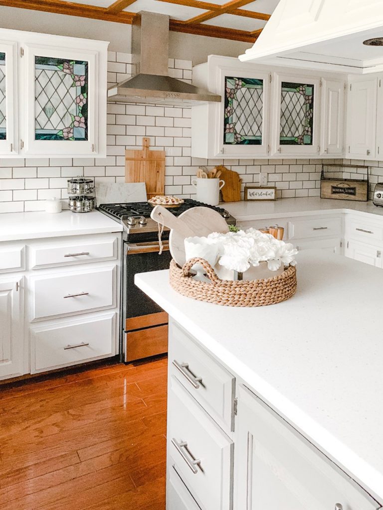
[[[35,57],[35,139],[88,139],[88,63]]]

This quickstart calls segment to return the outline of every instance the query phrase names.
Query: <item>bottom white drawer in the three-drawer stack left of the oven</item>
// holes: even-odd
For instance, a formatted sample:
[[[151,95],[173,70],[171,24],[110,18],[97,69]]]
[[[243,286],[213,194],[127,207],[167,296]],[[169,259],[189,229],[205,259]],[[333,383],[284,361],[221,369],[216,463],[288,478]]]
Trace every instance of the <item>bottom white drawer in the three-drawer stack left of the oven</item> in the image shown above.
[[[115,353],[116,314],[31,327],[31,372],[107,358]]]

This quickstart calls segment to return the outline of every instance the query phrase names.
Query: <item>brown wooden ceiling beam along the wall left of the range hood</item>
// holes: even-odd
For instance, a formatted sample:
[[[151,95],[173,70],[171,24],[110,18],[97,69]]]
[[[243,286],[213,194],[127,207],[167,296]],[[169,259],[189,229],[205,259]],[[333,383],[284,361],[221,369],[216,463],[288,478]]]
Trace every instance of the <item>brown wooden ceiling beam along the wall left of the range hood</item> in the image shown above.
[[[17,7],[19,9],[30,9],[33,11],[53,12],[55,14],[66,14],[68,16],[79,16],[82,18],[102,19],[116,23],[131,24],[135,13],[121,12],[118,14],[109,13],[103,7],[95,7],[76,2],[64,2],[63,0],[0,0],[0,6]]]

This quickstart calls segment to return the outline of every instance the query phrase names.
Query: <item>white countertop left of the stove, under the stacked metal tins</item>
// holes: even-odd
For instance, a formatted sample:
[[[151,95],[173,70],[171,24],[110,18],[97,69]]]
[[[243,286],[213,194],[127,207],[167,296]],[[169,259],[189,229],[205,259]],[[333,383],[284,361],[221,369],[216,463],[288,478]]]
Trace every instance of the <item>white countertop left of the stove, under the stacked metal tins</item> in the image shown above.
[[[99,211],[57,214],[45,212],[0,214],[0,241],[16,241],[44,237],[77,236],[122,232],[121,223]]]

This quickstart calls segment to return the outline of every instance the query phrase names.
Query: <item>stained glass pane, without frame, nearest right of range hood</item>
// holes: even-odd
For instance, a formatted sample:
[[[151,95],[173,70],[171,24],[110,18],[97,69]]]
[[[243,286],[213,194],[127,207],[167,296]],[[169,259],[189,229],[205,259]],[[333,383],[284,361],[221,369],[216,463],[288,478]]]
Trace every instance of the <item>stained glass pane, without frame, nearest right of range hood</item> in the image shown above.
[[[264,81],[225,78],[224,143],[261,145]]]

